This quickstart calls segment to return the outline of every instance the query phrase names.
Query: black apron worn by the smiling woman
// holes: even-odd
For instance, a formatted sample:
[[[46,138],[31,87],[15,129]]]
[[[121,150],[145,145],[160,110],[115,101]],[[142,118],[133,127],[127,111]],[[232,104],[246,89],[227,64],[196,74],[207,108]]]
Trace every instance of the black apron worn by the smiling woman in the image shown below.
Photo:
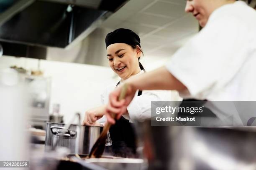
[[[116,86],[118,86],[120,82]],[[138,96],[142,95],[142,91],[138,91]],[[114,156],[123,158],[136,158],[136,134],[132,123],[123,116],[115,121],[109,129],[110,138],[112,140],[111,147]]]

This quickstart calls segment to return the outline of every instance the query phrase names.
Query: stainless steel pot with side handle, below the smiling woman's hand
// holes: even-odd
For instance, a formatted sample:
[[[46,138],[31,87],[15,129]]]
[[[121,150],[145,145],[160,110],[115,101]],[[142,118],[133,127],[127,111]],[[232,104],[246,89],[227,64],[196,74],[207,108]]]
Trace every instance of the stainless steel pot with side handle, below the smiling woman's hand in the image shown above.
[[[52,150],[55,146],[69,148],[72,154],[89,154],[92,146],[103,127],[79,126],[71,124],[68,129],[64,123],[47,122],[45,150]],[[66,129],[66,130],[65,130]]]

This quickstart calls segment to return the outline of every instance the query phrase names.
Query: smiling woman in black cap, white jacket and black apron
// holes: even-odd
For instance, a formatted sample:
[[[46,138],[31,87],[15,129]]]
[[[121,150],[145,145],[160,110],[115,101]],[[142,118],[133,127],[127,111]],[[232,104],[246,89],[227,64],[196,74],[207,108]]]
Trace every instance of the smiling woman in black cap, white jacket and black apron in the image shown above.
[[[109,93],[116,86],[122,85],[123,81],[145,72],[139,61],[143,54],[140,38],[135,32],[119,28],[108,33],[105,43],[109,65],[121,79],[106,88],[102,94],[102,106],[87,110],[84,116],[84,125],[99,125],[97,120],[105,114]],[[112,143],[112,151],[115,156],[133,157],[135,154],[136,137],[131,122],[151,117],[151,101],[174,99],[171,92],[166,90],[136,90],[135,93],[136,96],[131,105],[125,109],[125,114],[109,130],[111,140],[108,139],[107,145]]]

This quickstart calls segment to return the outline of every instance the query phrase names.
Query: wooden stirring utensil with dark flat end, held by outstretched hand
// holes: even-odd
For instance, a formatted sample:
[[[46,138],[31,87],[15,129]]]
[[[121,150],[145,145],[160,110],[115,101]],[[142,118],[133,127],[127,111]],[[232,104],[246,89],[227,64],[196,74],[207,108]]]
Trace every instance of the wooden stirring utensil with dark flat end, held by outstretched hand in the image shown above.
[[[125,97],[127,87],[128,87],[128,84],[123,85],[118,100],[122,100]],[[117,115],[112,114],[110,116],[116,119]],[[100,137],[97,139],[96,143],[92,147],[92,150],[89,154],[89,158],[100,158],[101,157],[101,155],[105,149],[107,133],[108,133],[110,126],[111,126],[111,124],[107,121],[103,128],[102,133],[100,134]]]

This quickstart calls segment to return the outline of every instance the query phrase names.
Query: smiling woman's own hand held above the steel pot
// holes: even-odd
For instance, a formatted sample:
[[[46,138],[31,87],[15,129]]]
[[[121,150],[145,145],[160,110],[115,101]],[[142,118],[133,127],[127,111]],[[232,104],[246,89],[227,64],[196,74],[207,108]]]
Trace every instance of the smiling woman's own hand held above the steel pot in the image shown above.
[[[87,110],[84,115],[83,125],[101,126],[96,120],[100,119],[106,112],[106,105]]]

